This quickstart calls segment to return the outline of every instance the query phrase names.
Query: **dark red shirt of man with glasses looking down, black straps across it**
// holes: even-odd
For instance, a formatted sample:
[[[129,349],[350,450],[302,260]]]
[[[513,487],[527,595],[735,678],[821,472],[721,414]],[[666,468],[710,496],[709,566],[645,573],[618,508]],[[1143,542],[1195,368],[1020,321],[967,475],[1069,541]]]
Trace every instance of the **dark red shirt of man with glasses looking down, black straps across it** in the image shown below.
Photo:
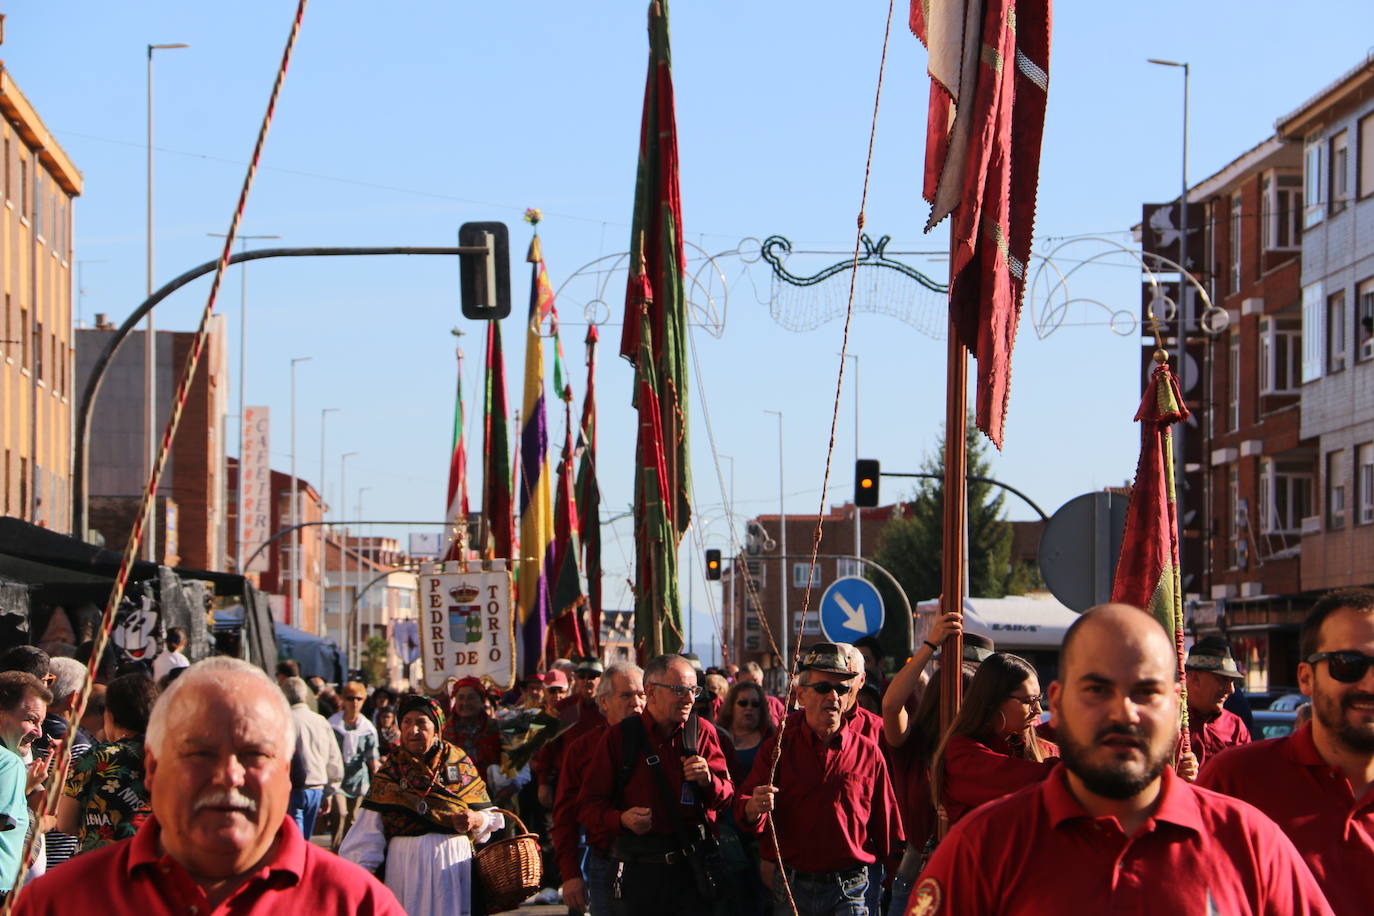
[[[644,755],[653,751],[660,758],[664,777],[675,799],[679,799],[679,817],[684,823],[698,820],[695,801],[683,803],[683,798],[691,798],[690,790],[683,792],[683,729],[682,725],[673,729],[666,739],[658,733],[658,726],[649,710],[640,713],[644,724],[646,746],[635,761],[635,768],[629,773],[629,781],[617,801],[611,798],[616,787],[616,772],[624,758],[625,722],[616,728],[607,728],[605,737],[594,742],[591,753],[584,761],[577,761],[584,766],[583,787],[577,795],[577,820],[587,831],[595,836],[618,836],[625,831],[620,823],[622,812],[631,808],[647,808],[653,816],[650,834],[664,836],[673,835],[673,823],[669,817],[666,801],[654,775],[649,772]],[[716,821],[716,812],[727,808],[735,798],[735,784],[730,781],[730,769],[725,765],[725,755],[720,750],[720,737],[710,722],[699,722],[697,732],[697,753],[706,758],[710,769],[710,786],[699,788],[705,806],[708,823]]]

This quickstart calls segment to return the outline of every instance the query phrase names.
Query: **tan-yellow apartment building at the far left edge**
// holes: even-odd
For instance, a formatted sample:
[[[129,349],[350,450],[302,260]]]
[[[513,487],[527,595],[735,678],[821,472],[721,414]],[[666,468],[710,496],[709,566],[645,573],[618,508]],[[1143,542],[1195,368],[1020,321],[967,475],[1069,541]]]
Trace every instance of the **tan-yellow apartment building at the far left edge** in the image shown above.
[[[0,514],[71,530],[71,203],[81,173],[0,63]]]

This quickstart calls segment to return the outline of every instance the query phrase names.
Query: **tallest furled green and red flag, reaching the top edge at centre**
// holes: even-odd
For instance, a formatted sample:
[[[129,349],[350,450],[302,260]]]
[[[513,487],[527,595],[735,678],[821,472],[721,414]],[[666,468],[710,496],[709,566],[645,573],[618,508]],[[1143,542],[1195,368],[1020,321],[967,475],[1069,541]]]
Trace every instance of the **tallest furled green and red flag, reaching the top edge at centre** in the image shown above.
[[[691,520],[687,299],[668,1],[649,4],[649,73],[629,235],[620,354],[635,365],[635,640],[649,655],[683,644],[677,545]]]

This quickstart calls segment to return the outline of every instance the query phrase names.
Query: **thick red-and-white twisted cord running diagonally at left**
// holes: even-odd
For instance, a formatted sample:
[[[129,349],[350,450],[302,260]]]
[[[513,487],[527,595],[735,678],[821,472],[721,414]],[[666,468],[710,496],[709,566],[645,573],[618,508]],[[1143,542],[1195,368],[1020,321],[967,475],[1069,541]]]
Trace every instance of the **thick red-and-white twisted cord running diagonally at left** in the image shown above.
[[[229,220],[229,229],[224,236],[224,249],[220,251],[220,264],[216,266],[214,280],[210,284],[210,294],[206,298],[205,310],[201,313],[201,324],[195,331],[195,339],[187,353],[185,364],[181,369],[181,378],[177,380],[176,394],[172,398],[172,415],[168,417],[166,428],[162,431],[162,439],[158,444],[157,460],[153,463],[153,471],[148,475],[147,486],[143,488],[143,496],[139,503],[139,514],[133,519],[133,529],[129,531],[129,541],[124,548],[120,571],[115,575],[114,586],[110,591],[110,600],[106,603],[104,614],[100,618],[100,629],[95,633],[91,648],[91,659],[87,663],[87,676],[81,684],[76,705],[67,713],[67,729],[70,733],[76,733],[76,728],[80,724],[81,717],[85,715],[87,703],[91,699],[91,688],[95,685],[96,672],[99,670],[100,661],[110,644],[110,632],[114,629],[115,611],[118,611],[120,603],[124,600],[124,591],[128,585],[129,574],[133,570],[135,558],[137,556],[139,547],[143,544],[143,529],[150,515],[150,509],[157,499],[158,482],[162,479],[162,471],[166,468],[168,456],[172,450],[172,439],[176,437],[177,426],[181,423],[181,413],[185,409],[187,396],[191,391],[191,383],[195,380],[195,369],[201,363],[201,354],[205,350],[205,341],[209,338],[210,316],[214,313],[214,301],[218,298],[220,286],[224,282],[224,271],[228,268],[229,255],[234,253],[234,242],[236,240],[239,225],[243,222],[243,210],[247,206],[249,192],[253,188],[253,179],[257,176],[258,163],[262,158],[262,147],[267,143],[267,135],[272,126],[272,118],[276,113],[276,102],[280,98],[282,85],[286,81],[286,71],[291,62],[291,52],[295,48],[297,37],[301,34],[301,22],[305,18],[306,3],[309,3],[309,0],[300,0],[297,4],[295,18],[291,21],[291,32],[287,36],[286,48],[282,52],[282,63],[278,66],[276,80],[272,84],[272,93],[267,103],[267,111],[262,115],[262,124],[258,128],[257,141],[253,146],[253,155],[249,159],[249,169],[243,176],[243,187],[239,190],[238,205],[234,207],[234,217]],[[44,787],[44,801],[38,808],[41,813],[52,813],[52,810],[55,810],[56,792],[51,790],[56,788],[56,786],[66,777],[66,770],[70,762],[70,755],[65,754],[59,772],[55,773],[49,779],[48,786]],[[33,856],[33,846],[37,842],[38,835],[38,829],[32,831],[23,845],[23,854],[19,858],[19,871],[14,880],[15,893],[5,898],[4,909],[0,911],[4,916],[10,915],[21,889],[23,887],[25,873],[29,871],[29,858]]]

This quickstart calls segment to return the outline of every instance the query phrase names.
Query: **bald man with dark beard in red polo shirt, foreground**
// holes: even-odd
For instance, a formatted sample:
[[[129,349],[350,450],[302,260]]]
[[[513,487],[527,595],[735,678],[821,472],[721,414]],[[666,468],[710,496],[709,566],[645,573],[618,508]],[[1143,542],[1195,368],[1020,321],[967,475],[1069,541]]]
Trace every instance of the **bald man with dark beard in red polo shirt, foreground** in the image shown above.
[[[1178,659],[1158,621],[1091,608],[1059,659],[1050,714],[1063,762],[965,816],[908,913],[1331,913],[1274,821],[1175,775]]]

